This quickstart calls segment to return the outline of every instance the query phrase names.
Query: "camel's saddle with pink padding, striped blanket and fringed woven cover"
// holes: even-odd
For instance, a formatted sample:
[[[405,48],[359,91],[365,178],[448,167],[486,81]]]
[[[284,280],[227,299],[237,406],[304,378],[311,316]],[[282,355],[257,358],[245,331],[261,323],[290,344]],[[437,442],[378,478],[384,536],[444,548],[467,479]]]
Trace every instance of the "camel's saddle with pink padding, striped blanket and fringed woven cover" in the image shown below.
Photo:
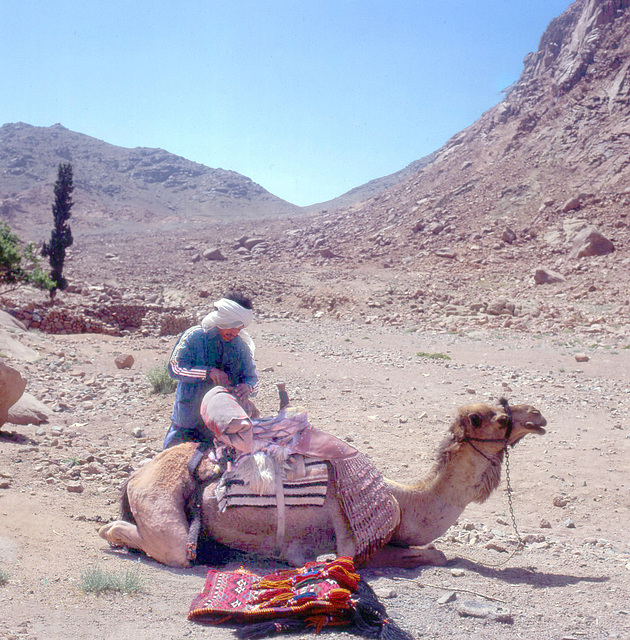
[[[231,409],[230,409],[231,407]],[[216,437],[218,458],[234,444],[239,452],[216,488],[219,508],[277,509],[276,551],[284,547],[286,508],[322,506],[328,483],[335,483],[342,511],[353,532],[359,560],[386,544],[400,520],[398,503],[380,472],[364,454],[335,436],[314,429],[306,412],[282,407],[270,418],[251,420],[251,433],[230,429],[243,410],[227,391],[209,392],[202,416]],[[234,421],[232,419],[234,416]],[[250,425],[245,425],[249,429]]]

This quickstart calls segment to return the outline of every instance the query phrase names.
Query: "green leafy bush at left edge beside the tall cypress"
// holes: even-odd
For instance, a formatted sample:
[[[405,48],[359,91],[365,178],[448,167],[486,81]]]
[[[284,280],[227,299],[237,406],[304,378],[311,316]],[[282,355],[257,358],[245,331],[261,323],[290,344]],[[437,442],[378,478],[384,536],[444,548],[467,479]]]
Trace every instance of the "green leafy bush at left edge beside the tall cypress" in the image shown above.
[[[39,266],[35,244],[22,245],[18,236],[5,222],[0,223],[0,285],[7,293],[22,284],[39,289],[52,289],[53,281]],[[6,287],[6,288],[5,288]]]

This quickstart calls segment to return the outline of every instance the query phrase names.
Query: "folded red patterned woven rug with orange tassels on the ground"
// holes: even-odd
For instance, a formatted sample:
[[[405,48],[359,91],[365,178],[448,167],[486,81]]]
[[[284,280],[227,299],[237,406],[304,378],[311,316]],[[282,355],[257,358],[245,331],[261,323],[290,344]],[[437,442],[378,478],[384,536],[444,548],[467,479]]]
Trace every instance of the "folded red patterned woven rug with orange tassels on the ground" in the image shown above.
[[[193,600],[189,620],[238,623],[239,638],[263,638],[307,627],[352,627],[368,638],[409,640],[386,616],[369,585],[354,571],[351,558],[309,562],[258,576],[246,569],[210,569],[203,591]]]

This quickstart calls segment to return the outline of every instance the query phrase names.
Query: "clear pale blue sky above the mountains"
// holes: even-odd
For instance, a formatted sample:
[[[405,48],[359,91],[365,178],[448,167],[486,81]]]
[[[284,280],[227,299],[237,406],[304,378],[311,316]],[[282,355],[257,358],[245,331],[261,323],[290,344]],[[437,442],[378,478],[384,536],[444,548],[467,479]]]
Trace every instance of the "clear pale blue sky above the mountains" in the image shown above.
[[[472,124],[570,4],[3,2],[0,124],[160,147],[314,204]]]

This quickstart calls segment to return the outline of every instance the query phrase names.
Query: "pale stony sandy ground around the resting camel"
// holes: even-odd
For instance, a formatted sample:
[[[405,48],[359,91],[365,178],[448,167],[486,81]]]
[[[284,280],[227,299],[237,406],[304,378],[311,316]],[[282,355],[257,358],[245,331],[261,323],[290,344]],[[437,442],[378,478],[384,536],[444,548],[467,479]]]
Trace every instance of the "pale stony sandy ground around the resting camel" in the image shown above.
[[[252,334],[263,414],[275,413],[274,382],[286,380],[315,426],[352,441],[399,481],[428,471],[461,405],[505,395],[547,418],[547,434],[528,436],[510,456],[522,552],[487,566],[505,561],[515,540],[504,473],[501,488],[438,541],[446,567],[364,572],[403,628],[418,638],[630,637],[630,350],[566,336],[423,334],[333,321],[263,321]],[[207,567],[169,569],[112,551],[96,533],[118,515],[129,471],[161,448],[172,396],[151,395],[145,374],[174,340],[20,339],[39,359],[12,364],[27,391],[56,410],[42,428],[6,424],[0,432],[0,570],[8,577],[0,638],[230,637],[186,618]],[[577,352],[589,360],[577,362]],[[115,367],[119,353],[134,356],[130,370]],[[429,357],[436,355],[448,359]],[[132,434],[138,427],[143,437]],[[76,485],[82,492],[69,490]],[[85,593],[81,577],[96,567],[136,569],[144,590]],[[465,615],[469,601],[483,604],[485,617]]]

